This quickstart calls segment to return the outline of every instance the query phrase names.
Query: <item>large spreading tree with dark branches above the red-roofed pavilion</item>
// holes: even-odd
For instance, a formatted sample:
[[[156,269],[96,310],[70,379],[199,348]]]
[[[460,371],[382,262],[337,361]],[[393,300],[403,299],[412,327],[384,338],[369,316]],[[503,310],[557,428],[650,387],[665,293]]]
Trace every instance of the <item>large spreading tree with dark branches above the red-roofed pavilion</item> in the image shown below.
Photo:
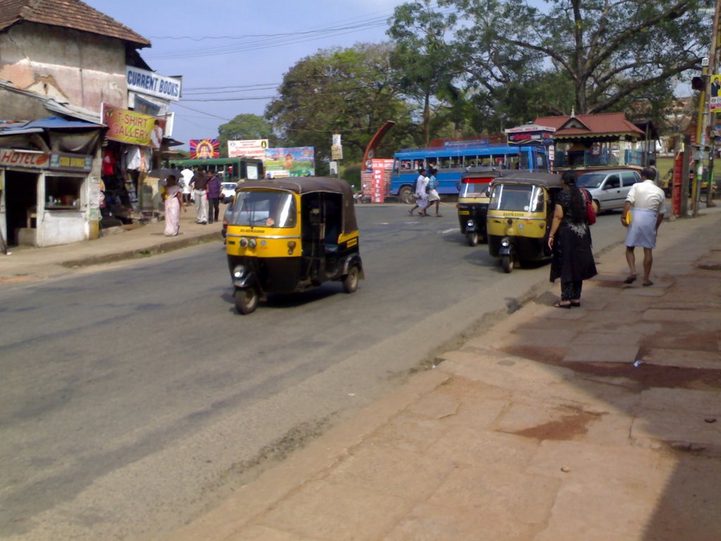
[[[469,84],[494,95],[497,85],[515,82],[515,92],[534,86],[534,72],[550,74],[570,85],[576,113],[598,113],[652,88],[656,97],[671,96],[675,78],[708,51],[703,8],[712,0],[546,2],[544,13],[526,0],[438,0],[461,12],[455,44]]]

